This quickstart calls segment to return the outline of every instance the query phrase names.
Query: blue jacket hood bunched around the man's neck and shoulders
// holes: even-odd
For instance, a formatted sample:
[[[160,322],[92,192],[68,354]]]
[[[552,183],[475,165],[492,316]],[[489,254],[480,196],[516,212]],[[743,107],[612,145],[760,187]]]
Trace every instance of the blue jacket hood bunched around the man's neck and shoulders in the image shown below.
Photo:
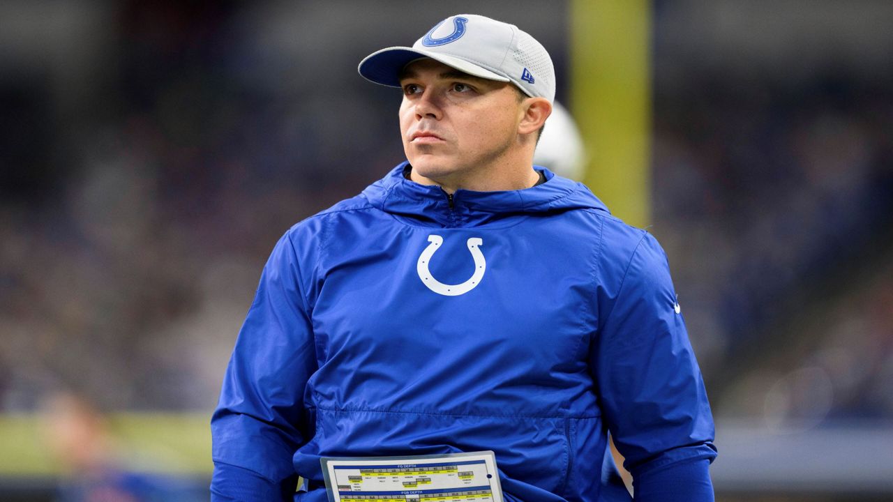
[[[572,209],[610,213],[585,185],[538,165],[533,168],[543,172],[546,182],[536,187],[496,192],[459,189],[453,194],[452,201],[437,185],[421,185],[407,180],[404,172],[408,166],[408,162],[398,164],[387,176],[365,188],[363,197],[386,213],[444,227],[471,227],[509,216]]]

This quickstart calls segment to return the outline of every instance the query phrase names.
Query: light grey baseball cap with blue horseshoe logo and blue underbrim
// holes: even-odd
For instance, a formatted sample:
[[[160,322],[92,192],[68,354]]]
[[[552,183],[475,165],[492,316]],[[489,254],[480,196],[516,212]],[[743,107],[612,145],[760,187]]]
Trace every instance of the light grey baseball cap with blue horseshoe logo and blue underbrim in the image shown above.
[[[482,79],[512,82],[527,96],[555,100],[555,68],[546,48],[513,24],[475,14],[438,22],[412,47],[369,54],[358,70],[365,79],[399,88],[400,71],[423,57]]]

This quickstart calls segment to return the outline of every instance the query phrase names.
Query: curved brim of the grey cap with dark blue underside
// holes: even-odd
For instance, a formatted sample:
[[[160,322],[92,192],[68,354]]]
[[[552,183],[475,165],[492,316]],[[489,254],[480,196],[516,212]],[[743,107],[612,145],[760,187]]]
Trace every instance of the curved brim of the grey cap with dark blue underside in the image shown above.
[[[403,71],[407,64],[422,57],[430,57],[458,71],[463,71],[481,79],[498,80],[500,82],[509,81],[507,77],[482,68],[477,64],[469,63],[464,59],[413,47],[388,47],[376,51],[363,58],[357,70],[360,71],[360,75],[364,79],[383,86],[398,88],[400,87],[400,72]]]

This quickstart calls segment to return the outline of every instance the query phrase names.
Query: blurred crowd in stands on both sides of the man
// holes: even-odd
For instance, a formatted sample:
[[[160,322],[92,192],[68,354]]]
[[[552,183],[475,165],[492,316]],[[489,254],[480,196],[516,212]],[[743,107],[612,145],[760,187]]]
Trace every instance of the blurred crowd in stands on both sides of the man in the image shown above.
[[[524,26],[567,74],[563,10],[515,4],[0,6],[0,412],[56,389],[210,410],[277,238],[402,160],[399,93],[355,64],[464,9]],[[887,29],[859,34],[871,54],[813,37],[794,45],[826,57],[761,65],[729,48],[754,27],[705,44],[697,4],[655,3],[649,230],[715,411],[893,421]],[[707,11],[755,15],[733,4]]]

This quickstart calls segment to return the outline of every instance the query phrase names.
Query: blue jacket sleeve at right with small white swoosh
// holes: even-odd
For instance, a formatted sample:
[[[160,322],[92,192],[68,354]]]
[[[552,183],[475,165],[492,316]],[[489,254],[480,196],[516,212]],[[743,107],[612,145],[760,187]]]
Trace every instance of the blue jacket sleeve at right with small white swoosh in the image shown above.
[[[666,255],[645,234],[626,269],[613,273],[590,364],[635,499],[713,500],[713,416]]]

